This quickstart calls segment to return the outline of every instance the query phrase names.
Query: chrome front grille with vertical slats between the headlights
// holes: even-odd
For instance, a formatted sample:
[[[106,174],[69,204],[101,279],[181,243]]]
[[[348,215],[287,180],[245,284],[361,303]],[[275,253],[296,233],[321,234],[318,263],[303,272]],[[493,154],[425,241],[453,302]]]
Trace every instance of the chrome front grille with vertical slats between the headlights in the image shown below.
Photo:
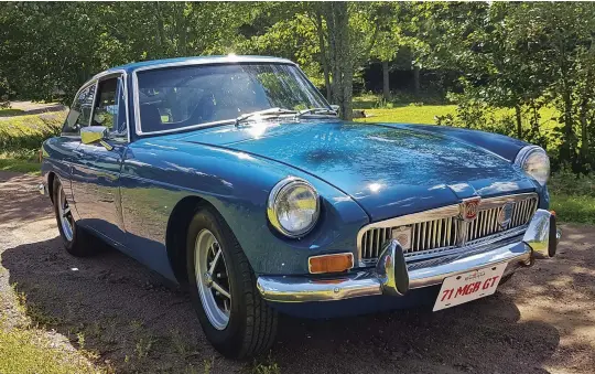
[[[511,202],[512,216],[502,228],[498,215],[502,206]],[[382,244],[392,238],[392,231],[411,227],[411,245],[404,249],[409,259],[421,255],[440,255],[465,245],[477,244],[490,236],[518,231],[529,223],[538,206],[534,193],[485,199],[479,205],[477,218],[464,223],[458,218],[458,205],[445,206],[408,216],[397,217],[364,227],[359,233],[359,250],[363,266],[375,264]],[[425,256],[424,256],[425,257]]]

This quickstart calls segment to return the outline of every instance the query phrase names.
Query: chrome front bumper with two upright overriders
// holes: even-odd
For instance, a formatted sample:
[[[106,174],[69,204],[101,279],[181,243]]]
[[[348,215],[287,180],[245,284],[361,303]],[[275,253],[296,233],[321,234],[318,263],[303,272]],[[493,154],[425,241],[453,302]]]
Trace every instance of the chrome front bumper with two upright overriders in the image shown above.
[[[513,239],[477,245],[462,255],[437,258],[428,265],[407,264],[397,239],[382,247],[378,264],[334,278],[314,279],[299,276],[261,276],[258,289],[273,302],[309,302],[350,299],[363,296],[402,296],[410,289],[440,285],[445,278],[507,263],[505,275],[530,266],[536,258],[553,257],[560,241],[555,215],[537,210],[522,236]]]

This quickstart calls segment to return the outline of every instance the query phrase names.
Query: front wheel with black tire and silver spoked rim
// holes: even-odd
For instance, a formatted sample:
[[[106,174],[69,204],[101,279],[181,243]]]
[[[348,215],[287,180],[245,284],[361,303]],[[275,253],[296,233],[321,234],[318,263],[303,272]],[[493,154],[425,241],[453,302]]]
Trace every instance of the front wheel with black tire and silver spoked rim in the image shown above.
[[[231,229],[215,211],[203,209],[190,223],[186,242],[190,293],[208,341],[232,359],[266,352],[278,316],[260,297]]]

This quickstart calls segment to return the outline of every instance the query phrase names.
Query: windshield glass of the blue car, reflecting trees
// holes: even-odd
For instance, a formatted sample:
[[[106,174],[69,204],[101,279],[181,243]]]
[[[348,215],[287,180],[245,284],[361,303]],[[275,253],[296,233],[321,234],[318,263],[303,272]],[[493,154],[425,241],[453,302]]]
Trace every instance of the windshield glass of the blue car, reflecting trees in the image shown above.
[[[289,64],[193,65],[137,74],[143,132],[235,120],[277,107],[328,108],[301,71]]]

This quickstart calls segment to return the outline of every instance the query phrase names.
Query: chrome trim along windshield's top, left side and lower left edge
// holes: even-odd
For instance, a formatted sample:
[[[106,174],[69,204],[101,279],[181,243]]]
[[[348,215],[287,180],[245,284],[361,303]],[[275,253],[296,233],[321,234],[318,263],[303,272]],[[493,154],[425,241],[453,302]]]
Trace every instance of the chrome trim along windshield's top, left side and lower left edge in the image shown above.
[[[170,133],[170,132],[176,132],[181,130],[190,130],[190,129],[196,129],[196,128],[203,128],[203,127],[209,127],[213,125],[218,124],[225,124],[225,122],[234,122],[235,118],[232,119],[226,119],[226,120],[219,120],[219,121],[213,121],[213,122],[206,122],[206,124],[198,124],[194,126],[186,126],[175,129],[169,129],[169,130],[160,130],[160,131],[142,131],[141,122],[140,122],[140,103],[139,103],[139,77],[137,75],[138,72],[144,72],[144,71],[152,71],[156,68],[165,68],[165,67],[176,67],[176,66],[192,66],[192,65],[214,65],[214,64],[237,64],[237,63],[269,63],[269,64],[285,64],[285,65],[293,65],[298,68],[298,64],[290,60],[285,58],[278,58],[278,57],[262,57],[262,58],[255,58],[251,56],[236,56],[236,55],[229,55],[229,56],[218,56],[218,57],[212,57],[212,58],[196,58],[196,60],[187,60],[182,62],[171,62],[171,63],[163,63],[163,64],[155,64],[155,65],[149,65],[143,66],[134,70],[132,72],[132,99],[133,99],[133,109],[134,109],[134,130],[137,131],[138,136],[142,135],[155,135],[155,133]]]

